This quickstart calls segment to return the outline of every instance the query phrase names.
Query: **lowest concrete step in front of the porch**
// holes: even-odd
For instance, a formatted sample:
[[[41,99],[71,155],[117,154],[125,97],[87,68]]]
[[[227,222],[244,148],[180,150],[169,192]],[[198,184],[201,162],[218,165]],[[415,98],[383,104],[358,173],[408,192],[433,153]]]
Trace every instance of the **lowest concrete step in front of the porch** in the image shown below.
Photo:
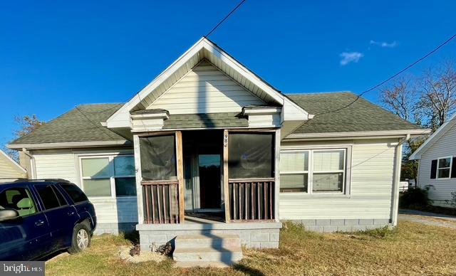
[[[172,258],[176,262],[224,262],[231,265],[242,259],[242,249],[176,248]]]

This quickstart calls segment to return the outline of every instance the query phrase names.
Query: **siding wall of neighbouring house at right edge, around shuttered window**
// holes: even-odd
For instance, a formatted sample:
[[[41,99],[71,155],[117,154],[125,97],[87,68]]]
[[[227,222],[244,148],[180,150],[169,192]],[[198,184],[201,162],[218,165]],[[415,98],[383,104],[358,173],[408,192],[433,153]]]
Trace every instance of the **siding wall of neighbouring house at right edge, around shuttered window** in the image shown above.
[[[421,154],[418,171],[418,186],[424,188],[432,185],[428,191],[429,198],[433,201],[432,205],[449,207],[445,200],[452,199],[451,193],[456,191],[456,178],[430,179],[432,160],[445,156],[456,156],[456,124]]]

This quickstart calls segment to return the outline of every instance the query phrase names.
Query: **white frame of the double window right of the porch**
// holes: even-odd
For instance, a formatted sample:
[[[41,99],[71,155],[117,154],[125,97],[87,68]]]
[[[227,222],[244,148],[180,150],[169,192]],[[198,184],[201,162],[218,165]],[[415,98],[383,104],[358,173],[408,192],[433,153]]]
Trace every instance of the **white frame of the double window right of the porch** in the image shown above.
[[[343,171],[333,170],[333,171],[314,171],[314,152],[320,151],[334,151],[334,150],[343,150]],[[282,152],[309,152],[309,168],[308,168],[308,178],[307,178],[307,192],[280,192],[281,195],[300,195],[300,196],[313,196],[313,197],[324,197],[324,196],[336,196],[336,197],[350,197],[351,196],[351,154],[353,152],[353,144],[338,144],[331,146],[313,146],[313,147],[281,147]],[[343,172],[343,184],[342,191],[313,191],[314,183],[314,173],[336,173]],[[279,171],[279,174],[287,174],[288,171],[282,172]]]

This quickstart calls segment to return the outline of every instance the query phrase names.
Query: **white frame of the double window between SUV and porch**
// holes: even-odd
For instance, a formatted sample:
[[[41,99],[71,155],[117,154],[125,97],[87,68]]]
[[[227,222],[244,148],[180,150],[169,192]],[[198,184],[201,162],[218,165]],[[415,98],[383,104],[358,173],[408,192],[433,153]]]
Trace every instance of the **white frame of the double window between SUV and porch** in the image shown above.
[[[117,198],[117,195],[115,194],[115,179],[116,178],[126,178],[126,177],[131,177],[135,179],[136,175],[120,175],[116,176],[115,175],[115,169],[114,169],[114,159],[115,157],[122,157],[122,156],[133,156],[133,161],[135,161],[135,155],[134,154],[100,154],[100,155],[84,155],[84,156],[79,156],[79,175],[81,177],[81,189],[86,192],[86,189],[84,189],[84,180],[89,180],[89,179],[109,179],[110,180],[110,189],[111,189],[111,195],[110,196],[87,196],[88,198]],[[101,158],[108,158],[108,164],[109,164],[109,177],[90,177],[90,176],[83,176],[83,159],[101,159]],[[120,196],[119,198],[135,198],[136,196]]]

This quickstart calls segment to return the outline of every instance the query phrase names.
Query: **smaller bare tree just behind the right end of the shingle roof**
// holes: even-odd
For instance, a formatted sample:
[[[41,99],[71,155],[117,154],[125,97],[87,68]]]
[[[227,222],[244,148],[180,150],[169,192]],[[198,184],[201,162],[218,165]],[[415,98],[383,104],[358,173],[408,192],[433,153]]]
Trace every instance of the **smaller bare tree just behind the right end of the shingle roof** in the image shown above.
[[[395,115],[407,121],[414,121],[418,103],[417,95],[413,78],[408,77],[383,88],[380,91],[380,101]]]

